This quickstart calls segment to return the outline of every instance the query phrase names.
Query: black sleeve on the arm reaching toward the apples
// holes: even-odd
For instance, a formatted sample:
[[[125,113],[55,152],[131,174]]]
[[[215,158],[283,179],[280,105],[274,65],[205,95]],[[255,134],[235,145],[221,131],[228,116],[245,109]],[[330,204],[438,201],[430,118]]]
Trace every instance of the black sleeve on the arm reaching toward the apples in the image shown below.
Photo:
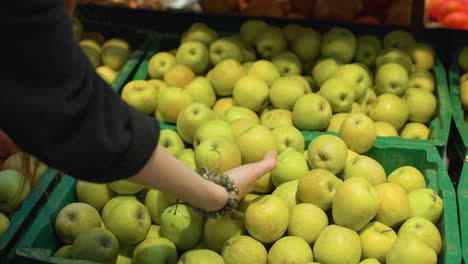
[[[159,124],[96,74],[64,1],[1,2],[0,128],[26,152],[79,179],[108,182],[143,168]]]

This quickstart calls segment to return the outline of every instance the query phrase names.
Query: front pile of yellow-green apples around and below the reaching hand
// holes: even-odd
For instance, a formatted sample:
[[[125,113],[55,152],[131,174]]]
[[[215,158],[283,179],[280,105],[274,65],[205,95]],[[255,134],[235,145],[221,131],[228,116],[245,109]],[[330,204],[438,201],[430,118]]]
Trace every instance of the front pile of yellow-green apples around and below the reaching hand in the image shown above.
[[[225,130],[211,129],[219,124]],[[193,169],[225,172],[272,150],[279,152],[277,167],[237,211],[218,218],[126,180],[78,181],[77,202],[55,219],[64,246],[54,257],[117,264],[437,263],[443,201],[418,169],[402,166],[387,175],[338,136],[319,136],[305,148],[300,133],[290,138],[284,130],[298,132],[257,124],[235,136],[227,121],[212,120],[197,130],[195,149],[162,130],[160,143]]]

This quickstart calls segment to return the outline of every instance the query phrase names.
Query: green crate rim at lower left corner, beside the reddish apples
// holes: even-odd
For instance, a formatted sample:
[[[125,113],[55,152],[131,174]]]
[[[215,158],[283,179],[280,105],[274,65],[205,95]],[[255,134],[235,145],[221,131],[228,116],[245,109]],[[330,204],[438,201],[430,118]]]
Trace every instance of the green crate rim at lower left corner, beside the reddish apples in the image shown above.
[[[43,202],[49,188],[53,185],[57,176],[57,170],[47,169],[39,180],[38,184],[32,188],[29,196],[23,201],[21,207],[10,219],[10,226],[0,236],[0,263],[7,262],[14,256],[16,242],[21,232],[32,222],[34,214]]]

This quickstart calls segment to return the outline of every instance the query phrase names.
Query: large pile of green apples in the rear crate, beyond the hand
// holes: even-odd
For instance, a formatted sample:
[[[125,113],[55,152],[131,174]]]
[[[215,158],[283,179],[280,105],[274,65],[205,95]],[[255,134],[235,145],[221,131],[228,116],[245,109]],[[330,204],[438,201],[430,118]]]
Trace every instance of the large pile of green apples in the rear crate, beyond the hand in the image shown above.
[[[176,124],[190,144],[193,133],[183,131],[179,114],[191,106],[198,110],[188,119],[208,115],[197,103],[213,118],[307,131],[338,132],[350,113],[363,113],[376,122],[377,136],[422,140],[436,116],[432,50],[406,31],[356,38],[340,27],[320,34],[249,20],[224,37],[196,23],[180,43],[155,54],[149,80],[127,83],[122,98]]]

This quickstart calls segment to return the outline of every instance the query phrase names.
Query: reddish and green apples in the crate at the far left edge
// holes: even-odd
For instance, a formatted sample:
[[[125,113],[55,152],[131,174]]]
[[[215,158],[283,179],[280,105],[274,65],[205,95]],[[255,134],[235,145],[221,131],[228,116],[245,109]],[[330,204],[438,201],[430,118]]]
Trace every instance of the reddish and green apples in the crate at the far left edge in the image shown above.
[[[10,218],[28,197],[47,166],[34,156],[21,152],[0,130],[0,236],[10,226]],[[31,175],[26,178],[25,174]]]

